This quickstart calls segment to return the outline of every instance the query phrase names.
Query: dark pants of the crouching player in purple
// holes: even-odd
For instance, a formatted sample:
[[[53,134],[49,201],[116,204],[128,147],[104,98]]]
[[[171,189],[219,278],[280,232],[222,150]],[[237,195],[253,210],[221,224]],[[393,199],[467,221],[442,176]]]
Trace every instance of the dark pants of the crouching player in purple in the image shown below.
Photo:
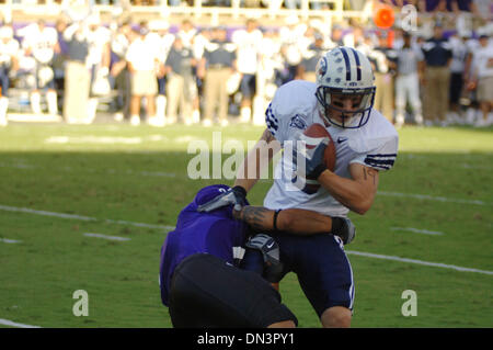
[[[296,316],[257,273],[208,253],[184,259],[171,280],[169,311],[176,328],[265,328]]]

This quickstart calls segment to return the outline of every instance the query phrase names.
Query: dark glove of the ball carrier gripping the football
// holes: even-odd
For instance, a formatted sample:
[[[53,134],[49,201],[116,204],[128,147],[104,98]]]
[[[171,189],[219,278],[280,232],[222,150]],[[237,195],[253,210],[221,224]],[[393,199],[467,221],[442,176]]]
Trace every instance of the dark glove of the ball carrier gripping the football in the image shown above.
[[[293,147],[293,163],[296,167],[296,173],[307,179],[317,180],[320,174],[326,170],[326,166],[323,162],[323,155],[325,148],[329,145],[329,137],[325,137],[320,142],[317,147],[308,149],[306,146],[298,148],[298,142]],[[305,162],[305,173],[300,173],[300,165]]]

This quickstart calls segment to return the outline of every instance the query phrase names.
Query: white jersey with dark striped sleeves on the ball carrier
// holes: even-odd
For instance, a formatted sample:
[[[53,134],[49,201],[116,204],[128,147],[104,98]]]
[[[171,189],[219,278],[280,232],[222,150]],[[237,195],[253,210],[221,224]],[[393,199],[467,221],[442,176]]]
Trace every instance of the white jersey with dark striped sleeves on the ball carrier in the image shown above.
[[[324,125],[314,97],[317,84],[294,80],[280,87],[266,111],[271,134],[283,145],[297,140],[300,133],[314,123]],[[379,171],[392,168],[397,157],[399,135],[380,112],[371,110],[368,123],[359,128],[325,127],[334,140],[334,172],[351,179],[349,165],[362,163]],[[270,210],[305,208],[324,215],[346,216],[348,208],[339,203],[322,187],[313,194],[305,193],[291,183],[290,157],[283,157],[274,173],[274,184],[264,200]],[[289,163],[290,162],[290,163]]]

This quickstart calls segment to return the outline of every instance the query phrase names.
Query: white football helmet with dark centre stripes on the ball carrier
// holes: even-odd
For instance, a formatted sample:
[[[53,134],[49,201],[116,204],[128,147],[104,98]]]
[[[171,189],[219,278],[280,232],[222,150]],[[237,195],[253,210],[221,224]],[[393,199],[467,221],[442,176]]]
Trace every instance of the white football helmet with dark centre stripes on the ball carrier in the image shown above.
[[[317,64],[317,100],[322,117],[344,128],[362,127],[368,122],[374,106],[375,77],[371,64],[359,50],[352,47],[335,47]],[[359,106],[344,110],[332,103],[332,94],[360,95]],[[342,113],[342,121],[331,117],[333,112]]]

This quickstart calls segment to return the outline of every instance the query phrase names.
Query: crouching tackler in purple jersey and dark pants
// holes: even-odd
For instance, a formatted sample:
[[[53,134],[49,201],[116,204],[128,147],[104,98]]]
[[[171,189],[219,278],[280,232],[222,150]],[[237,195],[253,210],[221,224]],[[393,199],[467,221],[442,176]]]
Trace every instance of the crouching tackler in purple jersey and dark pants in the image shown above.
[[[160,286],[174,327],[295,327],[279,293],[255,272],[237,268],[234,251],[249,235],[232,206],[198,213],[198,205],[229,190],[202,189],[179,215],[161,249]]]

